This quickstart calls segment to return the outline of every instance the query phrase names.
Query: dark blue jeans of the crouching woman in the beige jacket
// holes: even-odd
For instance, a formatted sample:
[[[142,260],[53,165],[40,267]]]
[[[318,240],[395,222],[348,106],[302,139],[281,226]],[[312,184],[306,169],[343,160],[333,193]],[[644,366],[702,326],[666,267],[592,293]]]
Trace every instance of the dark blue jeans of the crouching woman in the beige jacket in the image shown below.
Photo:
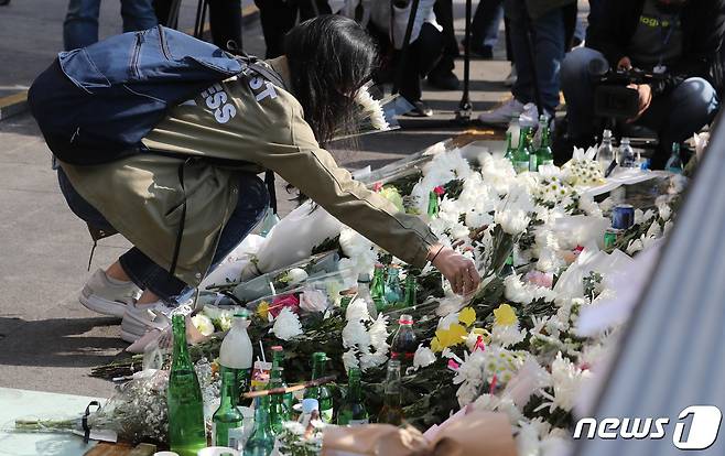
[[[58,169],[58,184],[68,207],[76,216],[94,228],[115,231],[106,218],[73,188],[63,169]],[[269,194],[264,183],[255,174],[239,173],[237,207],[221,230],[208,272],[212,272],[259,224],[268,205]],[[123,253],[118,260],[123,271],[138,287],[150,290],[166,303],[176,303],[180,295],[188,294],[186,283],[171,275],[169,271],[151,261],[136,247]]]

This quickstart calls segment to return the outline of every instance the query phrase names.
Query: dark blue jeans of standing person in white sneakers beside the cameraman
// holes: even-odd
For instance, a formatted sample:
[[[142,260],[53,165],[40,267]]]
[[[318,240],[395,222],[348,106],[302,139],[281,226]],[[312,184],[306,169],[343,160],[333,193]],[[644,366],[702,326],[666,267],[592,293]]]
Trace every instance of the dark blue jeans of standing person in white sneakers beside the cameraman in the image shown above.
[[[559,106],[559,72],[565,53],[564,14],[556,8],[530,20],[524,0],[506,0],[506,15],[511,30],[511,47],[518,78],[511,93],[522,104],[534,102],[531,58],[527,51],[527,28],[531,26],[531,45],[544,110],[552,116]]]

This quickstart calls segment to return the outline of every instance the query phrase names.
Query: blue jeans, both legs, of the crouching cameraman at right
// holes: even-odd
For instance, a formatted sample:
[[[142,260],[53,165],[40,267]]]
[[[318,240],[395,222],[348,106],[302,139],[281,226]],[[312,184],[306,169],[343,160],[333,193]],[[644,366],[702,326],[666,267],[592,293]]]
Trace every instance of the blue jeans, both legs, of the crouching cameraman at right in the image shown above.
[[[588,47],[572,51],[562,65],[561,79],[566,99],[569,135],[583,139],[594,135],[595,84],[588,73],[592,61],[606,66],[604,55]],[[713,120],[719,100],[713,86],[700,77],[685,79],[673,90],[654,96],[652,104],[636,122],[657,131],[663,151],[673,142],[682,142]]]

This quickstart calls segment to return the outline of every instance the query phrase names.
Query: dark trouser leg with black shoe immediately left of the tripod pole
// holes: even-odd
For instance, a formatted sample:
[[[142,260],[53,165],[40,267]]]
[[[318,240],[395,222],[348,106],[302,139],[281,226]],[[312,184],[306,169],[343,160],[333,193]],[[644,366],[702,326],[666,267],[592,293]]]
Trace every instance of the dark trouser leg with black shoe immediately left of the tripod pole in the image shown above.
[[[443,56],[435,68],[428,75],[428,82],[435,88],[457,90],[461,86],[458,76],[453,73],[455,58],[458,56],[458,42],[453,29],[453,0],[437,0],[433,6],[435,20],[443,28]]]

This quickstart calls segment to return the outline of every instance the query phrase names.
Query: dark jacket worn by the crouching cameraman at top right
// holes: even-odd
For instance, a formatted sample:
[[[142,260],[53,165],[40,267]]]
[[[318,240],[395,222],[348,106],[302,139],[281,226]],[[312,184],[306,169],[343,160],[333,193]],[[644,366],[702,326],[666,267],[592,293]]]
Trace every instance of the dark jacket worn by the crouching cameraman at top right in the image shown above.
[[[589,24],[587,47],[602,52],[612,67],[627,56],[645,0],[607,0],[597,22]],[[654,85],[654,93],[677,87],[689,77],[703,77],[722,87],[718,51],[725,31],[725,0],[690,0],[680,12],[682,58],[668,67],[667,78]]]

